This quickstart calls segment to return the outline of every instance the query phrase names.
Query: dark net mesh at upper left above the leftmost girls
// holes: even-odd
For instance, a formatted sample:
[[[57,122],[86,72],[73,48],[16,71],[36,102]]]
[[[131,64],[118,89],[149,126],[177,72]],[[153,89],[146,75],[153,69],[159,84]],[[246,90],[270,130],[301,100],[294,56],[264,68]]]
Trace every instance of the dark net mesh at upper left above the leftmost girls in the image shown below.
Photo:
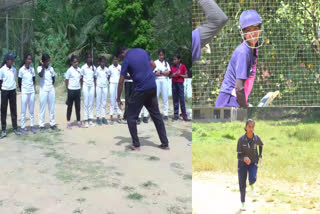
[[[14,53],[18,68],[26,53],[34,55],[33,1],[0,1],[0,61],[7,52]]]

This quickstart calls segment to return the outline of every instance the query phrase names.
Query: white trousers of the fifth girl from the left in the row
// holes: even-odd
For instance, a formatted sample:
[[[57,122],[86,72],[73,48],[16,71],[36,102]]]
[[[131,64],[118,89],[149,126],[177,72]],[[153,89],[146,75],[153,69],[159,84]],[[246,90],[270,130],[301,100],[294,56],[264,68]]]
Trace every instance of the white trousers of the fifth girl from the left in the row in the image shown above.
[[[83,85],[83,118],[84,120],[93,119],[94,86]]]

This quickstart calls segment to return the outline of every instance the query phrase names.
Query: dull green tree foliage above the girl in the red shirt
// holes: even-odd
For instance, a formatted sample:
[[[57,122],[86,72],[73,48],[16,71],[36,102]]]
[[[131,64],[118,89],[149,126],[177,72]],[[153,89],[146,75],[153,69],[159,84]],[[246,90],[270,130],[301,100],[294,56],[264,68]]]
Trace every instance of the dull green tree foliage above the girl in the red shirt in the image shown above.
[[[188,68],[192,66],[191,0],[158,0],[153,7],[153,40],[157,48],[164,48],[169,61],[177,53]],[[157,49],[153,51],[157,55]]]

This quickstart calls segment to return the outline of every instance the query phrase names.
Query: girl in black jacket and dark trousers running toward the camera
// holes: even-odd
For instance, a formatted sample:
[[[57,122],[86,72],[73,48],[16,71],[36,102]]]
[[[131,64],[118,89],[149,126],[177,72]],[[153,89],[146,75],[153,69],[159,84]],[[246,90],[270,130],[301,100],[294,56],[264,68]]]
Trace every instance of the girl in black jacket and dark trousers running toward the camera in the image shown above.
[[[249,173],[249,184],[254,192],[254,183],[257,180],[258,162],[262,158],[263,143],[260,137],[254,134],[255,122],[249,119],[246,122],[246,133],[238,140],[238,178],[241,195],[241,209],[245,210],[246,183]],[[259,147],[259,151],[258,151]]]

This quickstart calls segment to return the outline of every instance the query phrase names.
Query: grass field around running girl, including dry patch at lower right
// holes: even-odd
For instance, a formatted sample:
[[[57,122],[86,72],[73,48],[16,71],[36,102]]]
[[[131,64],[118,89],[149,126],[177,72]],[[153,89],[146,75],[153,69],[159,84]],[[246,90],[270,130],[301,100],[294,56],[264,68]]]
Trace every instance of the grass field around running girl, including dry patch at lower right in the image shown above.
[[[192,124],[193,174],[231,175],[237,183],[236,146],[244,122]],[[256,121],[264,142],[257,187],[266,203],[320,211],[320,124]],[[237,185],[233,191],[238,191]],[[299,212],[300,213],[300,212]]]

